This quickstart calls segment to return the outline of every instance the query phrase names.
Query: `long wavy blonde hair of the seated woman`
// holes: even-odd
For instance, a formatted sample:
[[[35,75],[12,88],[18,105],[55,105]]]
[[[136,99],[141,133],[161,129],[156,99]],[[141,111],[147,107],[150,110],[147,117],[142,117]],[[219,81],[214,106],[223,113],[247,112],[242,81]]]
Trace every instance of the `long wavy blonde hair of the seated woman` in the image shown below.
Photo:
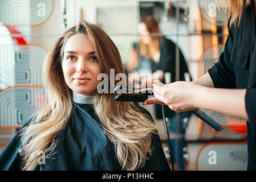
[[[34,170],[38,166],[40,151],[46,152],[50,158],[58,143],[55,137],[64,129],[74,110],[72,90],[64,81],[61,62],[64,45],[75,34],[87,36],[103,72],[109,78],[111,68],[115,69],[115,75],[124,73],[117,47],[95,24],[82,21],[60,36],[48,52],[43,66],[49,104],[37,111],[21,132],[22,147],[19,152],[23,159],[23,170]],[[97,93],[92,104],[101,127],[115,145],[120,166],[125,170],[139,169],[145,165],[147,156],[152,155],[151,139],[152,134],[157,134],[156,125],[132,102],[116,102],[114,97],[114,94]]]

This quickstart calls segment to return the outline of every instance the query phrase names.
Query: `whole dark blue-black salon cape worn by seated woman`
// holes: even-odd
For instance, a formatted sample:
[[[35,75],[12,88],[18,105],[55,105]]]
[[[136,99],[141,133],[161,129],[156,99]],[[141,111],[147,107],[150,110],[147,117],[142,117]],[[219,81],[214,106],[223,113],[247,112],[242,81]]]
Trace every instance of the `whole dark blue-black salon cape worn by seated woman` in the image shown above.
[[[102,127],[97,122],[97,117],[92,105],[74,102],[76,109],[64,130],[60,131],[56,139],[59,140],[50,159],[42,164],[42,170],[121,170],[115,155],[115,148]],[[144,112],[147,110],[140,107]],[[151,117],[151,116],[150,116]],[[152,118],[152,117],[151,117]],[[24,126],[29,123],[27,121]],[[20,131],[20,130],[19,130]],[[18,149],[21,142],[19,132],[6,146],[0,155],[0,170],[19,170],[21,159]],[[158,135],[152,137],[153,156],[147,160],[140,170],[170,170]],[[53,153],[54,153],[53,152]],[[43,160],[39,160],[43,162]],[[40,166],[36,168],[40,170]]]

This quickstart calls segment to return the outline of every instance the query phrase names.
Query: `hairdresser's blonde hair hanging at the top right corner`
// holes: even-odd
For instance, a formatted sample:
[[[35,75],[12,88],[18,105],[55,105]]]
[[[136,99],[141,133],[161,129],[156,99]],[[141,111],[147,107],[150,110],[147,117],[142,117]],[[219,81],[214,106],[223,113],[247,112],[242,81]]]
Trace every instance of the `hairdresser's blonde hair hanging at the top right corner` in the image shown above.
[[[227,11],[230,24],[229,28],[234,24],[239,27],[243,12],[243,4],[250,5],[250,0],[216,0],[217,5],[220,4]]]

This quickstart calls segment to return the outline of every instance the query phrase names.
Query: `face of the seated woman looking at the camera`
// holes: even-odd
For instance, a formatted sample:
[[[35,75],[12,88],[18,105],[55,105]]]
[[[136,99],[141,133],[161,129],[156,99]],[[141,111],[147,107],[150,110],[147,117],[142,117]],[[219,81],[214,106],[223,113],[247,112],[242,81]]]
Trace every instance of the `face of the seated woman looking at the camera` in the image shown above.
[[[97,75],[102,73],[99,60],[88,38],[76,34],[68,38],[64,45],[62,60],[64,79],[68,87],[86,96],[97,93]]]

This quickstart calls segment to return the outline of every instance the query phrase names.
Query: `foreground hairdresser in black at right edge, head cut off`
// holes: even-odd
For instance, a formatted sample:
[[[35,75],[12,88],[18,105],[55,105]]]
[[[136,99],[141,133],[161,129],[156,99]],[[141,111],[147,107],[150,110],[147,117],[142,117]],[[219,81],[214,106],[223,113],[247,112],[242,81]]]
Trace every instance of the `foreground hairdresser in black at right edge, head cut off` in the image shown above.
[[[248,170],[256,170],[256,6],[255,1],[216,1],[229,14],[229,36],[219,61],[193,82],[153,85],[155,99],[176,111],[209,109],[246,119]]]

